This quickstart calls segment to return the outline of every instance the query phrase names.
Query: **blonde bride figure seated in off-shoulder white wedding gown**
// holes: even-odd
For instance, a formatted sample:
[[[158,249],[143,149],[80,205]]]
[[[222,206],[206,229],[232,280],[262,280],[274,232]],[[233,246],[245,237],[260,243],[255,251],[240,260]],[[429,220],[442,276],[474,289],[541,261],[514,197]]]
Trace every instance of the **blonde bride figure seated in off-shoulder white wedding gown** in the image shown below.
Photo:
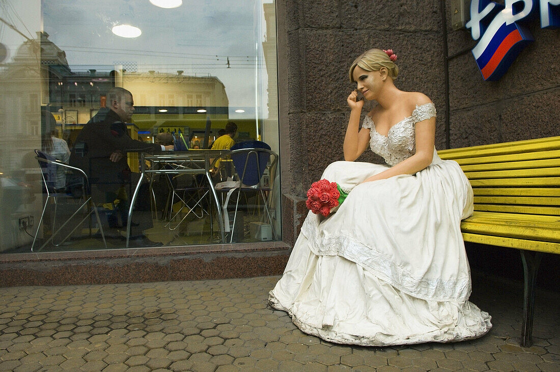
[[[351,191],[327,218],[307,215],[269,303],[302,331],[337,343],[480,337],[491,317],[468,301],[460,231],[473,192],[459,165],[437,156],[430,98],[394,86],[395,61],[392,50],[371,49],[352,64],[345,161],[321,177]],[[379,103],[361,129],[358,92]],[[354,162],[368,146],[389,166]]]

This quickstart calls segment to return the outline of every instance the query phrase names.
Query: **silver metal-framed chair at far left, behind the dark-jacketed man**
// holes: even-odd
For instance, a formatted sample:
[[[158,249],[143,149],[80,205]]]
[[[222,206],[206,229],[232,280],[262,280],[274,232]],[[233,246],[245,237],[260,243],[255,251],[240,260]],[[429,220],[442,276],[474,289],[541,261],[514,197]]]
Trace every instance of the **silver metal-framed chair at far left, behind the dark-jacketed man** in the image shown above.
[[[90,236],[91,236],[91,213],[95,213],[95,218],[97,220],[97,224],[99,225],[99,232],[101,233],[101,237],[103,239],[103,243],[105,244],[105,248],[107,248],[107,243],[105,241],[105,234],[103,232],[103,228],[101,226],[101,220],[99,218],[99,213],[97,213],[97,208],[94,205],[92,199],[91,199],[91,195],[88,195],[90,192],[90,187],[89,187],[89,183],[88,183],[88,179],[87,179],[87,175],[85,172],[82,171],[82,169],[80,168],[76,168],[76,167],[72,167],[69,166],[66,163],[63,163],[61,161],[58,161],[57,159],[53,158],[52,156],[50,156],[49,154],[46,154],[40,150],[35,150],[35,154],[36,154],[36,159],[39,162],[39,168],[41,169],[41,177],[43,179],[43,192],[46,194],[46,200],[45,200],[45,205],[43,206],[43,213],[41,213],[41,218],[39,220],[39,223],[37,225],[37,231],[35,232],[35,237],[33,238],[33,243],[31,244],[31,252],[33,252],[33,248],[35,247],[35,242],[37,240],[37,236],[39,235],[39,230],[41,228],[41,224],[43,224],[43,220],[45,219],[45,211],[47,206],[49,205],[49,202],[52,201],[54,203],[54,218],[53,218],[53,223],[52,223],[52,230],[53,233],[50,236],[50,238],[48,238],[43,245],[38,249],[39,251],[41,249],[43,249],[46,244],[48,244],[49,242],[53,242],[53,246],[57,247],[60,246],[60,244],[64,243],[66,241],[66,239],[68,239],[72,233],[78,228],[80,227],[86,220],[90,220]],[[66,192],[66,190],[58,190],[55,189],[54,187],[54,181],[56,179],[56,175],[57,175],[57,170],[59,168],[63,168],[65,171],[68,172],[72,172],[74,173],[74,175],[78,176],[78,179],[80,181],[77,181],[79,183],[81,183],[81,195],[80,196],[75,196],[72,194],[69,194]],[[74,185],[76,186],[76,185]],[[81,199],[81,200],[80,200]],[[76,200],[80,200],[80,204],[78,206],[78,208],[76,209],[76,211],[74,211],[74,213],[57,229],[55,230],[55,226],[56,226],[56,218],[57,218],[57,207],[58,204],[60,203],[60,200],[72,200],[72,201],[76,201]],[[61,230],[66,227],[67,224],[73,222],[74,220],[74,216],[76,216],[78,214],[78,212],[80,212],[80,210],[82,210],[83,208],[87,208],[89,211],[88,213],[85,215],[85,217],[83,217],[80,222],[78,222],[75,227],[71,230],[71,232],[69,232],[67,234],[66,237],[64,237],[62,239],[62,241],[55,243],[54,242],[54,238],[57,236],[57,234],[59,234],[61,232]]]

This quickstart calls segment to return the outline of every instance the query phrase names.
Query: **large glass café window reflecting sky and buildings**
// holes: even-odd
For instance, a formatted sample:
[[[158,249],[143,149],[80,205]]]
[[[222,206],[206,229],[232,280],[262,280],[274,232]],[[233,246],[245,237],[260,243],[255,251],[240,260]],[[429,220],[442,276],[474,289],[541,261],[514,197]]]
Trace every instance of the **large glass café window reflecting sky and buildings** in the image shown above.
[[[0,251],[281,239],[276,58],[273,0],[3,1]]]

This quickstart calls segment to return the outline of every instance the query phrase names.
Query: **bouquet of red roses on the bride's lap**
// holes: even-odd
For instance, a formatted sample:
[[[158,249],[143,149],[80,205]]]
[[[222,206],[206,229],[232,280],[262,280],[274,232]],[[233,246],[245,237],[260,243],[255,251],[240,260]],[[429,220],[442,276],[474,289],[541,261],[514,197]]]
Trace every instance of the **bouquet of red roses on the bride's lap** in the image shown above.
[[[348,192],[342,190],[338,183],[320,180],[313,182],[307,190],[307,200],[305,205],[315,214],[328,216],[333,208],[336,208],[346,197]]]

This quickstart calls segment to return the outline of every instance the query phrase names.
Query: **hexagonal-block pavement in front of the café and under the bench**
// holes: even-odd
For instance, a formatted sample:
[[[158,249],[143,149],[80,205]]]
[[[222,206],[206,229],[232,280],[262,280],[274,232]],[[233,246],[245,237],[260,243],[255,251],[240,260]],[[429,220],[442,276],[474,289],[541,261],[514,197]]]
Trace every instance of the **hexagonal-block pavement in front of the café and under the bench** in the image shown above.
[[[529,348],[521,284],[488,277],[473,279],[471,297],[493,316],[488,335],[357,347],[305,335],[267,307],[277,280],[0,288],[0,370],[560,370],[558,293],[538,293]]]

